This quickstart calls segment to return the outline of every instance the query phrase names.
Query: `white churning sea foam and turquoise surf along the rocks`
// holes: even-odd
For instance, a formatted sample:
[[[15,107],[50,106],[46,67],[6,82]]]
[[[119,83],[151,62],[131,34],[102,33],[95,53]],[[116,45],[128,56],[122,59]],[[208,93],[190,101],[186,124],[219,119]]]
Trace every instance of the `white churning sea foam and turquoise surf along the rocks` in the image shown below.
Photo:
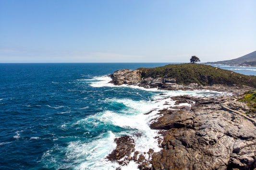
[[[66,160],[68,164],[60,165],[60,168],[69,168],[75,165],[74,169],[86,170],[115,170],[120,165],[111,162],[106,157],[115,149],[114,139],[123,135],[133,137],[135,142],[135,151],[141,154],[148,152],[150,148],[154,152],[160,151],[158,146],[158,130],[149,127],[150,123],[157,117],[159,110],[174,106],[175,101],[171,100],[171,96],[190,95],[190,96],[216,96],[223,93],[216,91],[166,91],[158,89],[146,89],[139,86],[121,85],[116,86],[110,82],[110,77],[94,77],[90,81],[92,87],[111,87],[116,89],[127,88],[127,93],[140,95],[145,100],[132,100],[128,98],[106,98],[98,102],[104,105],[105,109],[98,113],[89,115],[84,119],[80,119],[72,124],[66,123],[61,125],[61,129],[80,129],[84,131],[86,138],[69,142],[67,147],[61,148],[65,150]],[[130,89],[130,91],[128,90]],[[138,91],[133,91],[137,89]],[[105,90],[105,91],[112,91]],[[140,91],[149,91],[152,95],[149,98],[142,96]],[[163,95],[159,95],[164,93]],[[190,105],[181,103],[181,105]],[[60,106],[57,106],[60,107]],[[88,107],[80,108],[86,109]],[[148,114],[145,114],[148,113]],[[97,132],[97,133],[96,133]],[[45,155],[46,156],[46,155]],[[148,155],[144,155],[147,159]],[[53,157],[51,154],[48,157]],[[53,158],[55,160],[55,158]],[[70,162],[73,162],[72,164]],[[122,170],[137,169],[138,164],[130,161],[128,165],[122,166]]]

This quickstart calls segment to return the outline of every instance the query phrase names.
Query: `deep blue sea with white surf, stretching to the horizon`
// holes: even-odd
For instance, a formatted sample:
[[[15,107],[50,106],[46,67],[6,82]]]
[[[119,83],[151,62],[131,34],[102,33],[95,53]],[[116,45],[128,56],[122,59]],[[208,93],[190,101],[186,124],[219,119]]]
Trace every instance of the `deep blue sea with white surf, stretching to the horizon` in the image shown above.
[[[174,103],[158,99],[221,93],[114,86],[106,76],[166,64],[0,64],[0,170],[115,170],[119,165],[105,157],[122,135],[133,136],[141,153],[159,151],[157,131],[148,126],[156,115],[144,113]],[[225,69],[256,75],[256,68]]]

